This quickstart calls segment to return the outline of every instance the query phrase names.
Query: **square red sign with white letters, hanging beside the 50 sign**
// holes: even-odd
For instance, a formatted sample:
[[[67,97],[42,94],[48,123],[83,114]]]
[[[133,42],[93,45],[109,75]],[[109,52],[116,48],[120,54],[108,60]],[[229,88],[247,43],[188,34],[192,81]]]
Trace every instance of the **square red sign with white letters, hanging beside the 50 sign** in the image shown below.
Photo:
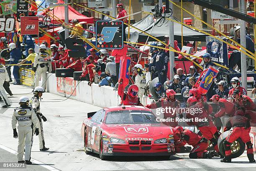
[[[20,17],[20,34],[39,34],[38,17]]]

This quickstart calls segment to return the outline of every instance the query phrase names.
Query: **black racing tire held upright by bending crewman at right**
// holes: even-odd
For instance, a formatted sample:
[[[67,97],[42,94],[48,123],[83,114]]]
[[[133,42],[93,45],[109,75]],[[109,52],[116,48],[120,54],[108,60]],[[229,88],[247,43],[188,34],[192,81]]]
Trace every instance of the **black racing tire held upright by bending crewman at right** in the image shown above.
[[[223,145],[223,142],[225,139],[223,139],[219,145],[220,154],[222,156],[225,156],[225,148]],[[243,154],[245,151],[245,143],[241,140],[241,138],[238,138],[236,141],[234,141],[231,145],[231,158],[237,158]]]

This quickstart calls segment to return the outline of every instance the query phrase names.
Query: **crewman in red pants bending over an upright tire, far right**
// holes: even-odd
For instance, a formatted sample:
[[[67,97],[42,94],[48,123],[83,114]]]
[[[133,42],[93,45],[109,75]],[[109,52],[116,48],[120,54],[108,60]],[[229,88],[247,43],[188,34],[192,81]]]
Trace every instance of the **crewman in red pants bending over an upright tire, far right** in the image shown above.
[[[225,158],[221,162],[230,163],[231,162],[231,149],[230,145],[233,141],[241,138],[241,140],[246,143],[247,146],[247,157],[250,163],[254,163],[253,156],[253,144],[251,143],[251,138],[249,135],[250,132],[250,122],[246,117],[243,110],[237,110],[233,117],[230,117],[226,123],[226,130],[230,130],[233,127],[233,130],[230,132],[228,137],[225,139],[224,148],[225,148]]]

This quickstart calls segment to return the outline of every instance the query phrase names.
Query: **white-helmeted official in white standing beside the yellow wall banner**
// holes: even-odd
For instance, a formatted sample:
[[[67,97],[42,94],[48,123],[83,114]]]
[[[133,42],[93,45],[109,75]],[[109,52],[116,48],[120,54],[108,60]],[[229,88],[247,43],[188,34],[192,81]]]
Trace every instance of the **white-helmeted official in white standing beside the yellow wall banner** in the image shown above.
[[[44,44],[40,45],[40,53],[35,57],[34,61],[34,71],[36,72],[36,77],[35,77],[35,85],[34,87],[39,86],[39,80],[41,79],[41,76],[43,77],[42,79],[42,87],[46,89],[46,72],[48,69],[48,60],[50,56],[46,52],[46,46]]]

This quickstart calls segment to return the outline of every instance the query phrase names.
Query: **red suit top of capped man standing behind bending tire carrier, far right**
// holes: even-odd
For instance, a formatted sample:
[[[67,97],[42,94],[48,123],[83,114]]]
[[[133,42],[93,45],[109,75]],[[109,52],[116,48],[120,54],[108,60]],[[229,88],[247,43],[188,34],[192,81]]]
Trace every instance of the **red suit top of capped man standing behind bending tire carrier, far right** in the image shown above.
[[[240,99],[235,100],[234,103],[236,105],[236,110],[243,109],[255,111],[255,104],[251,98],[246,95],[241,95]]]

